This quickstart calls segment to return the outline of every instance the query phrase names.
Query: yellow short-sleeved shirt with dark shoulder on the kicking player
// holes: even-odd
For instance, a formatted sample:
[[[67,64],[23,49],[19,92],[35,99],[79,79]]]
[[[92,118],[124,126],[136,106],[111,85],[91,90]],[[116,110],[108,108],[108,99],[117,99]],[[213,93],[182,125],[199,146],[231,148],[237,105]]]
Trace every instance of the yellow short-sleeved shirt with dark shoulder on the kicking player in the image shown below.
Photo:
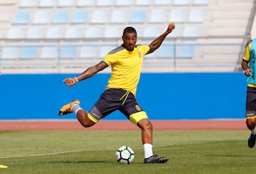
[[[143,58],[149,50],[149,45],[137,45],[133,51],[128,51],[122,46],[110,51],[103,59],[112,69],[106,89],[124,89],[135,95]]]

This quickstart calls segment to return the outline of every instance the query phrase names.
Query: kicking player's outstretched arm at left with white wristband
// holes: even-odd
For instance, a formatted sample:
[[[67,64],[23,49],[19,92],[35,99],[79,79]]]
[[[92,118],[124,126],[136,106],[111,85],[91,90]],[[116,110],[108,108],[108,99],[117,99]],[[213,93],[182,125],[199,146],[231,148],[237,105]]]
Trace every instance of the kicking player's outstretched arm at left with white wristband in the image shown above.
[[[77,82],[80,82],[82,80],[85,80],[87,78],[92,77],[95,75],[97,72],[104,70],[107,67],[107,63],[101,61],[97,65],[93,65],[92,67],[88,67],[84,72],[82,72],[80,75],[73,77],[73,78],[65,78],[63,82],[65,82],[68,87],[72,87],[75,85]]]

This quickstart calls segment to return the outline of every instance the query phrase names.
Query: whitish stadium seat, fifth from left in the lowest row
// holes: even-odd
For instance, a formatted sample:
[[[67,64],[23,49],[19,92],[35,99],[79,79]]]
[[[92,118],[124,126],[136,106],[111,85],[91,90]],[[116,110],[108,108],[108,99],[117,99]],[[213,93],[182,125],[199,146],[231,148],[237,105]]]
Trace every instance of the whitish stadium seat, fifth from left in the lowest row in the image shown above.
[[[80,47],[80,54],[78,58],[97,58],[97,45],[85,45]]]

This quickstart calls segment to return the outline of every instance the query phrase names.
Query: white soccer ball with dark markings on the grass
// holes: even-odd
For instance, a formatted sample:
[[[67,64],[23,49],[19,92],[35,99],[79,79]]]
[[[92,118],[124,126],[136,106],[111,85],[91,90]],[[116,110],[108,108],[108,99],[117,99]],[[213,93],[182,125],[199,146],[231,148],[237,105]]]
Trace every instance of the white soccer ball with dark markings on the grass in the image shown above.
[[[129,146],[121,146],[117,149],[115,158],[120,164],[130,164],[134,161],[134,151]]]

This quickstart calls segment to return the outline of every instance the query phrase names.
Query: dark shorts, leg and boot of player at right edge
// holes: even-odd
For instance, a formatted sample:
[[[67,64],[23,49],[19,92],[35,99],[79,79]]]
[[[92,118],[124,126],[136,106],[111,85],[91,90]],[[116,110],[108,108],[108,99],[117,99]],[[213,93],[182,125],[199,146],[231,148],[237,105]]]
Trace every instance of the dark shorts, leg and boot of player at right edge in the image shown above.
[[[246,99],[246,126],[251,131],[248,138],[248,146],[253,148],[256,141],[256,88],[247,87]]]

